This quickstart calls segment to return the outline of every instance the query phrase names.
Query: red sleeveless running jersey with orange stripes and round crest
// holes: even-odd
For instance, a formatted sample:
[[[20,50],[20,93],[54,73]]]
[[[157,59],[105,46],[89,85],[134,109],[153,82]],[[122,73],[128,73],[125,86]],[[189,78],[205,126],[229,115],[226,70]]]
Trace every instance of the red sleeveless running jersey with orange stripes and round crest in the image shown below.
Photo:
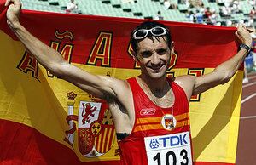
[[[161,164],[160,162],[167,161],[167,159],[178,161],[183,158],[185,159],[182,160],[184,164],[190,164],[190,162],[192,164],[189,102],[183,88],[178,86],[177,83],[168,80],[174,94],[174,104],[169,108],[161,108],[148,98],[148,95],[144,93],[135,77],[127,81],[130,83],[133,94],[135,123],[131,134],[119,141],[122,165],[146,165],[149,161],[150,165]],[[170,134],[177,134],[177,136],[168,137]],[[163,137],[161,137],[162,135]],[[185,144],[188,145],[188,141],[190,157],[188,156],[188,151],[184,150],[178,151],[180,152],[179,155],[182,156],[180,159],[173,157],[173,151],[166,151],[165,157],[160,157],[160,153],[152,151],[154,149],[160,150],[160,145],[162,145],[161,149],[163,150],[170,144],[185,146]],[[186,160],[187,157],[190,159],[189,163]]]

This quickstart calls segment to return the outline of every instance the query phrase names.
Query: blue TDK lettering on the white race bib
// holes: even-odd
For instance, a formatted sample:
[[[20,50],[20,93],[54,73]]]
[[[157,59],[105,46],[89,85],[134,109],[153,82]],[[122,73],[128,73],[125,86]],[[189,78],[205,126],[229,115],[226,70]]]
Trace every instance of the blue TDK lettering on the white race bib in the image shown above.
[[[159,138],[158,140],[162,144],[162,147],[188,145],[188,141],[186,140],[187,135],[188,134],[178,134],[174,136]]]

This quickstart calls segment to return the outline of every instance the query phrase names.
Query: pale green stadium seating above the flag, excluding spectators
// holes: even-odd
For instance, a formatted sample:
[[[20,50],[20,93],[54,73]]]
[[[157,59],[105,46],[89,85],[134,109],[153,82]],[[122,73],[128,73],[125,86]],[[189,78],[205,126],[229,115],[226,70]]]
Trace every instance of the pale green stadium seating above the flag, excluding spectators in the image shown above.
[[[65,13],[69,0],[21,0],[21,2],[24,9]],[[220,13],[223,10],[231,11],[233,7],[224,9],[226,4],[208,0],[202,0],[203,6],[199,8],[192,6],[191,3],[178,3],[177,0],[172,0],[172,3],[177,4],[177,9],[166,9],[163,0],[133,0],[132,3],[127,2],[127,0],[126,2],[124,0],[77,0],[75,2],[79,6],[79,10],[75,13],[79,14],[154,19],[157,12],[161,11],[164,20],[191,22],[189,20],[189,11],[194,14],[196,12],[203,14],[202,9],[209,7],[212,12],[216,12],[216,23],[211,22],[212,24],[230,26],[237,21],[252,22],[249,20],[251,19],[250,11],[253,6],[247,0],[236,1],[239,2],[239,5],[237,5],[239,12],[230,12],[227,17],[223,17]],[[196,18],[194,22],[196,22]],[[205,21],[205,23],[209,22]]]

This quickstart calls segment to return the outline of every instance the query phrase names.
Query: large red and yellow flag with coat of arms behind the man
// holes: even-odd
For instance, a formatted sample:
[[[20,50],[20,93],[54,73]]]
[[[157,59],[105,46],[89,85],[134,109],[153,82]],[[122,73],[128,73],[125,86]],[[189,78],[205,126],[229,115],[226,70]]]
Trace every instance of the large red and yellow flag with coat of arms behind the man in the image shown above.
[[[55,77],[9,30],[0,1],[0,163],[119,164],[108,104]],[[126,79],[140,70],[130,32],[144,20],[22,10],[20,22],[72,65]],[[236,54],[235,28],[162,21],[175,54],[167,76],[201,76]],[[49,54],[51,55],[51,54]],[[235,164],[242,70],[190,100],[196,165]]]

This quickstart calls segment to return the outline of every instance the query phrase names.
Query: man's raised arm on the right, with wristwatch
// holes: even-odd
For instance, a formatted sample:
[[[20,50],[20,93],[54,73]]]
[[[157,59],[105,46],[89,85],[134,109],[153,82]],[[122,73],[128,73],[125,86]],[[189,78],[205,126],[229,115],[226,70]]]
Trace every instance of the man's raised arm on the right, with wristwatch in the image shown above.
[[[246,26],[239,24],[235,34],[237,42],[251,48],[252,37],[247,31]],[[230,78],[236,74],[236,71],[239,69],[247,53],[246,48],[241,48],[237,54],[218,65],[211,73],[202,77],[195,77],[193,94],[201,94],[209,88],[229,82]]]

